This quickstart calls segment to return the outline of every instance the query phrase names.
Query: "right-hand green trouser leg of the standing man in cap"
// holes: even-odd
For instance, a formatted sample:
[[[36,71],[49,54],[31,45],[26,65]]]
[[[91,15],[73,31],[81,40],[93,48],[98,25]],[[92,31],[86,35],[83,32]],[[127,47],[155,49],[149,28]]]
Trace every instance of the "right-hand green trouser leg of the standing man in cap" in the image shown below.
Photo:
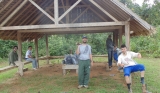
[[[90,77],[90,60],[86,60],[84,67],[84,85],[87,85],[87,87],[89,83],[89,77]]]

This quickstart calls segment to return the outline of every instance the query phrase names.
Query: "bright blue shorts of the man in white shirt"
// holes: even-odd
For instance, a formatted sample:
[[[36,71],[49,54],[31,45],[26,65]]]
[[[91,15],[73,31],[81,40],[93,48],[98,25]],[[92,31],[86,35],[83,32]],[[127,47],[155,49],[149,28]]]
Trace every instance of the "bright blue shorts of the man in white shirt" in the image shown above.
[[[137,72],[137,71],[145,71],[145,67],[142,64],[137,64],[134,66],[125,67],[123,69],[124,76],[130,76],[130,73]]]

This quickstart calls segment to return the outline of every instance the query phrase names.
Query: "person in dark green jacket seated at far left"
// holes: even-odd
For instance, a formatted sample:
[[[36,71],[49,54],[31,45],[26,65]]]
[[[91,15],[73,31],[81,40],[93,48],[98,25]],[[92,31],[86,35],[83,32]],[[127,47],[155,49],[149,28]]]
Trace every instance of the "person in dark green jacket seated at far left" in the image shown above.
[[[9,53],[8,58],[9,58],[9,65],[15,66],[15,62],[18,61],[18,54],[17,54],[17,46],[14,46],[12,51]]]

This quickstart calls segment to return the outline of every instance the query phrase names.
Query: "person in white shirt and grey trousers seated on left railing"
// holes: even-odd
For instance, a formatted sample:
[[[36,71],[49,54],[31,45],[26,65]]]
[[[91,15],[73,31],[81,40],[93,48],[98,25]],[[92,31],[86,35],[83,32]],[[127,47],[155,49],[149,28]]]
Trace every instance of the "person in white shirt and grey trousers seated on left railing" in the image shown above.
[[[26,61],[32,62],[32,67],[37,70],[37,61],[32,57],[32,46],[28,46],[28,50],[25,55]]]

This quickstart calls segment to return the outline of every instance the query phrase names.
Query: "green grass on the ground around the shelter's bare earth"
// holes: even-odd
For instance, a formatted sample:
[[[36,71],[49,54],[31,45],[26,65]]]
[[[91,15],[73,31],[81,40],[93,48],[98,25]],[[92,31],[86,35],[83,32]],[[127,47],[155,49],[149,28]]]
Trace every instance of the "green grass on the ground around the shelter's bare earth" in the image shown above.
[[[94,58],[95,62],[103,62],[107,58]],[[155,58],[142,58],[135,59],[138,63],[142,63],[146,67],[145,81],[148,85],[148,90],[152,93],[160,92],[160,59]],[[40,62],[41,65],[45,61]],[[61,59],[51,60],[51,63],[61,63]],[[31,64],[26,65],[25,67],[31,68]],[[126,93],[126,85],[123,85],[120,82],[117,82],[111,77],[104,79],[103,76],[98,76],[91,78],[89,82],[89,89],[77,89],[78,81],[77,76],[66,76],[54,75],[51,73],[50,76],[43,75],[41,73],[35,73],[30,77],[19,78],[17,83],[19,86],[23,86],[26,89],[14,89],[14,86],[10,84],[5,84],[10,78],[14,77],[16,69],[9,70],[1,73],[0,75],[0,93]],[[121,74],[121,79],[124,80],[123,73]],[[133,84],[132,89],[133,93],[142,93],[141,84],[140,84],[140,75],[139,73],[132,74]],[[15,92],[18,91],[18,92]]]

